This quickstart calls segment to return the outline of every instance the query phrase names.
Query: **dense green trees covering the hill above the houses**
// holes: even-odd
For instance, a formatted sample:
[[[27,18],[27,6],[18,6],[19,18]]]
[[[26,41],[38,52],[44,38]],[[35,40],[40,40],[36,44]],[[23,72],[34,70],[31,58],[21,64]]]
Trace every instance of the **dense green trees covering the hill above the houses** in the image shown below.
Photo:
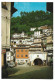
[[[11,18],[11,35],[13,33],[25,33],[31,35],[31,27],[53,25],[53,14],[44,11],[21,12],[21,16]],[[38,30],[38,29],[36,29]]]

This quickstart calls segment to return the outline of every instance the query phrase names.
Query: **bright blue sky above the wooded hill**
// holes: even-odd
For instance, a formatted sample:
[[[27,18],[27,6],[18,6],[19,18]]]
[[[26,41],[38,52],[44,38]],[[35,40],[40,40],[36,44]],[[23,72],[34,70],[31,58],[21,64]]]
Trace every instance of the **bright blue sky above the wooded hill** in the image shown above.
[[[20,16],[20,12],[31,12],[43,10],[46,12],[46,2],[15,2],[14,7],[17,11],[12,15],[13,17]]]

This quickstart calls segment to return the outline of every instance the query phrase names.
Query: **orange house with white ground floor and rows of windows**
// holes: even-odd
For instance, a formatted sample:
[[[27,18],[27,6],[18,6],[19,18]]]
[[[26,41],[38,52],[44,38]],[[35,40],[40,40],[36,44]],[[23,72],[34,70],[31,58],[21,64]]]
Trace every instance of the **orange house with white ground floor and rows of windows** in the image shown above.
[[[20,44],[15,49],[15,62],[18,64],[20,62],[22,63],[27,63],[28,62],[28,52],[29,52],[29,47],[24,44]]]

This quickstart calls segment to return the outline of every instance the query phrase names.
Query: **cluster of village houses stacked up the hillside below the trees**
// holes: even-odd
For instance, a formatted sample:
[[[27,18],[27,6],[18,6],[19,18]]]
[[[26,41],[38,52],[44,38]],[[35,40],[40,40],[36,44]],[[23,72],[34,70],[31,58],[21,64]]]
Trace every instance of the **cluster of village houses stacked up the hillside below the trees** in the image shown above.
[[[40,26],[38,31],[28,34],[14,33],[11,38],[10,51],[6,53],[6,61],[17,65],[50,65],[53,59],[53,30],[50,26]]]

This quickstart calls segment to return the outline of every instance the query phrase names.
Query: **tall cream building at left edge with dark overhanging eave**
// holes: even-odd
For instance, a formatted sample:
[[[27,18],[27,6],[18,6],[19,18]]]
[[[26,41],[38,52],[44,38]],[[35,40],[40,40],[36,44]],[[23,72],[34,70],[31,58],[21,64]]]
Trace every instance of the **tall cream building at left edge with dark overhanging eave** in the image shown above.
[[[6,52],[10,50],[10,21],[11,15],[16,11],[12,2],[2,2],[1,8],[1,45],[2,45],[2,66],[6,64]],[[11,12],[12,11],[12,12]]]

